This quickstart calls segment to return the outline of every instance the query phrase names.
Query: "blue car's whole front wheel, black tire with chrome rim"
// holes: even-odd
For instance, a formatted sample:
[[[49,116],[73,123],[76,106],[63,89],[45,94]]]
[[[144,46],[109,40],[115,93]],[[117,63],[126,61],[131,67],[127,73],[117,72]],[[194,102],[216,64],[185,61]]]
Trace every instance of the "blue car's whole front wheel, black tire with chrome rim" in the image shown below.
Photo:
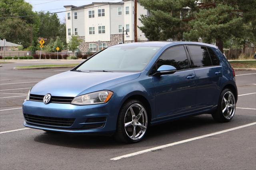
[[[117,120],[114,137],[120,142],[135,143],[144,138],[148,129],[146,107],[138,100],[124,103]]]

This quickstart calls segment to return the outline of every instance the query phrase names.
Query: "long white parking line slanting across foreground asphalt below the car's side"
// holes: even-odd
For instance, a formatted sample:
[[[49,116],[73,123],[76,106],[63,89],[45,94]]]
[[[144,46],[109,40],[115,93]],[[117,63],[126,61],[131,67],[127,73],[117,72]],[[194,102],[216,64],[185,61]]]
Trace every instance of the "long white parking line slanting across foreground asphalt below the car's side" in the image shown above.
[[[118,157],[115,157],[115,158],[111,158],[110,160],[120,160],[122,158],[128,158],[128,157],[135,156],[135,155],[138,155],[138,154],[144,154],[146,152],[151,152],[151,151],[166,148],[166,147],[169,147],[169,146],[174,146],[174,145],[177,145],[177,144],[190,142],[192,140],[206,138],[206,137],[213,136],[213,135],[216,135],[216,134],[221,134],[221,133],[229,132],[229,131],[232,131],[232,130],[236,130],[236,129],[239,129],[239,128],[244,128],[244,127],[248,127],[248,126],[252,126],[252,125],[256,125],[256,122],[249,123],[249,124],[246,124],[246,125],[242,125],[242,126],[239,126],[239,127],[229,128],[229,129],[226,129],[226,130],[221,130],[221,131],[210,133],[210,134],[205,134],[205,135],[202,135],[202,136],[198,136],[198,137],[194,137],[194,138],[190,138],[190,139],[186,139],[186,140],[181,140],[181,141],[174,142],[174,143],[169,143],[169,144],[157,146],[157,147],[154,147],[154,148],[149,148],[149,149],[146,149],[146,150],[141,150],[141,151],[138,151],[138,152],[134,152],[134,153],[118,156]]]

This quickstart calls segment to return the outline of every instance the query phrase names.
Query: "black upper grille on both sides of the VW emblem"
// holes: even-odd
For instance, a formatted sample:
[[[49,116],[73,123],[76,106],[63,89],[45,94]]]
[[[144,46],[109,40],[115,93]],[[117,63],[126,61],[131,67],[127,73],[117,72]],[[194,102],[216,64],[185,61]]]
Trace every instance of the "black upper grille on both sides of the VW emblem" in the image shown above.
[[[40,101],[42,102],[44,99],[44,95],[33,95],[30,94],[29,100],[31,101]],[[59,97],[59,96],[52,96],[50,103],[71,103],[74,97]]]

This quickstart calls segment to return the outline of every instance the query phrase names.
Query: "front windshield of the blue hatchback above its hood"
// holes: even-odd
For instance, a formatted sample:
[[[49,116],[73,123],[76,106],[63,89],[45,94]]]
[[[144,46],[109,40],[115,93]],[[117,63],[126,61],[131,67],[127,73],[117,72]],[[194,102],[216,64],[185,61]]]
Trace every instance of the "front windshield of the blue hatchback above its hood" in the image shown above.
[[[142,71],[160,47],[117,46],[94,55],[76,70],[80,71]]]

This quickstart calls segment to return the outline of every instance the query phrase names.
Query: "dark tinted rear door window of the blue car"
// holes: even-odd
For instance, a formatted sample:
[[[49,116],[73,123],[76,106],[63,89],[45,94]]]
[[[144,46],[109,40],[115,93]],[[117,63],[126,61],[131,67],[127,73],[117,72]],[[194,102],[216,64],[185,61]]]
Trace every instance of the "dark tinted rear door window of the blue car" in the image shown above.
[[[211,66],[212,62],[206,47],[202,46],[187,46],[190,51],[192,67],[206,67]]]

